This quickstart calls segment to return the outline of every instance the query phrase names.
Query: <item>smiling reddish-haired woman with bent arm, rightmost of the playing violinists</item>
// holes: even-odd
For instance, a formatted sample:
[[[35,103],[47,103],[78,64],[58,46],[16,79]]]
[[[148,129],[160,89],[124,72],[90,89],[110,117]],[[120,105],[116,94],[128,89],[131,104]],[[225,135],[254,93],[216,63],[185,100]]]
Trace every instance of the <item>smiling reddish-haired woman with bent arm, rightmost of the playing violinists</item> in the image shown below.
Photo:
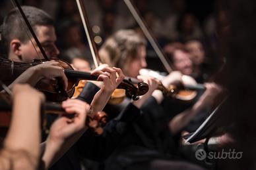
[[[166,56],[168,56],[168,58],[170,59],[171,65],[174,68],[174,70],[177,70],[181,73],[183,73],[184,75],[189,75],[193,78],[195,78],[196,81],[199,81],[197,83],[201,82],[201,76],[194,74],[194,68],[193,68],[193,62],[190,58],[192,58],[192,54],[189,53],[189,51],[185,48],[185,46],[181,43],[172,43],[169,45],[166,45],[166,47],[164,47],[164,52],[166,53]],[[194,59],[196,60],[196,59]],[[197,62],[202,62],[203,60],[203,56],[201,56],[201,58],[197,58]],[[205,82],[203,82],[205,83]],[[195,111],[195,109],[193,109],[193,107],[197,107],[201,104],[203,104],[201,102],[201,99],[205,97],[205,94],[208,94],[208,96],[210,96],[209,98],[212,98],[212,100],[215,98],[216,95],[218,95],[220,93],[220,91],[222,91],[221,87],[219,87],[218,85],[216,85],[216,83],[205,83],[205,87],[207,89],[207,91],[198,91],[198,95],[196,97],[196,100],[194,100],[193,102],[190,102],[190,104],[185,104],[188,106],[188,108],[192,108],[192,111]],[[216,92],[218,91],[218,93]],[[205,94],[203,94],[205,93]],[[214,94],[216,93],[216,94]],[[195,102],[198,102],[197,104],[195,104]],[[200,104],[201,103],[201,104]],[[176,108],[179,108],[179,104],[175,104]],[[182,105],[181,105],[182,106]],[[210,108],[212,107],[212,103],[209,102],[208,100],[205,100],[205,104],[202,105],[201,112],[197,112],[197,116],[192,116],[191,118],[193,119],[187,119],[190,120],[191,123],[187,122],[187,121],[178,121],[179,123],[174,123],[177,119],[174,119],[174,121],[172,121],[174,124],[176,125],[184,125],[183,123],[187,122],[189,123],[188,127],[186,128],[186,131],[192,132],[195,131],[197,129],[197,127],[199,127],[199,125],[201,125],[201,123],[203,123],[203,121],[205,120],[205,118],[208,116],[209,112],[210,112]],[[181,108],[182,109],[182,108]],[[179,109],[177,109],[179,110]],[[179,110],[179,112],[183,112],[184,110]],[[187,112],[187,111],[186,111]],[[188,113],[188,112],[187,112]],[[192,113],[192,112],[191,112]],[[181,116],[182,114],[179,114],[179,116]],[[187,114],[187,116],[191,116],[193,114]],[[176,117],[177,118],[177,117]],[[187,124],[185,123],[185,124]],[[174,128],[176,129],[176,128]]]

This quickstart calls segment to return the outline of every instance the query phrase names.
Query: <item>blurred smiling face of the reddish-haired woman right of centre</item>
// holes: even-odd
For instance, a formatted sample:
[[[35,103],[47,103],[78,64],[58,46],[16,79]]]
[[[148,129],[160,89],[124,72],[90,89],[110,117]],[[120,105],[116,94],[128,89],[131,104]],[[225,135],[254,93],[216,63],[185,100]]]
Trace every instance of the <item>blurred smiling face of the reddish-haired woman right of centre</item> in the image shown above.
[[[189,59],[189,53],[180,50],[174,52],[174,67],[176,70],[185,75],[190,75],[193,72],[193,65]]]

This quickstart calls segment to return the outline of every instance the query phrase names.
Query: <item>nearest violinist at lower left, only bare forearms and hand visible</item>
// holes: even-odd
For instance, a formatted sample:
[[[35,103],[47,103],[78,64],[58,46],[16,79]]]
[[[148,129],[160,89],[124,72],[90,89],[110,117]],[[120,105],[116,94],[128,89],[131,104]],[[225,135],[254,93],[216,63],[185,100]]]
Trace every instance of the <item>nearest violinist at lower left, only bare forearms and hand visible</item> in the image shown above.
[[[69,114],[75,113],[76,116],[73,120],[59,117],[53,123],[41,158],[40,106],[44,103],[45,96],[29,85],[15,85],[12,92],[12,120],[7,137],[0,148],[0,168],[38,169],[42,166],[38,160],[42,159],[44,168],[48,169],[49,165],[65,152],[66,147],[71,146],[71,137],[75,137],[75,134],[85,128],[89,105],[80,100],[63,102],[63,109]]]

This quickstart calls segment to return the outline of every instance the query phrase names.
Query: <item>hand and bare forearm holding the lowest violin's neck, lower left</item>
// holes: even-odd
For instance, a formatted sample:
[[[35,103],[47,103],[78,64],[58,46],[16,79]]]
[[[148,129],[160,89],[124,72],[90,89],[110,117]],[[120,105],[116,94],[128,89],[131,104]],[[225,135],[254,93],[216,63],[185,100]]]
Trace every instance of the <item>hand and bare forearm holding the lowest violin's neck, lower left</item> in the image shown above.
[[[89,104],[78,99],[68,99],[62,102],[62,107],[67,114],[75,114],[75,117],[69,119],[62,116],[51,125],[42,158],[46,169],[61,158],[86,130],[85,122],[90,108]]]

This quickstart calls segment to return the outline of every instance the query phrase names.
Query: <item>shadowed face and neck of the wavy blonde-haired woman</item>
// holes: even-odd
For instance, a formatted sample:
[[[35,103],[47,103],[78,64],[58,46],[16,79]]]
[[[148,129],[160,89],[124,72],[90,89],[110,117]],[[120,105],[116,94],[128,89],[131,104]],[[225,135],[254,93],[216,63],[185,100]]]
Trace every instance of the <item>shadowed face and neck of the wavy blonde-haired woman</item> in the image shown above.
[[[144,45],[138,48],[137,58],[129,61],[123,68],[123,71],[129,77],[137,77],[141,68],[146,68],[146,47]]]

